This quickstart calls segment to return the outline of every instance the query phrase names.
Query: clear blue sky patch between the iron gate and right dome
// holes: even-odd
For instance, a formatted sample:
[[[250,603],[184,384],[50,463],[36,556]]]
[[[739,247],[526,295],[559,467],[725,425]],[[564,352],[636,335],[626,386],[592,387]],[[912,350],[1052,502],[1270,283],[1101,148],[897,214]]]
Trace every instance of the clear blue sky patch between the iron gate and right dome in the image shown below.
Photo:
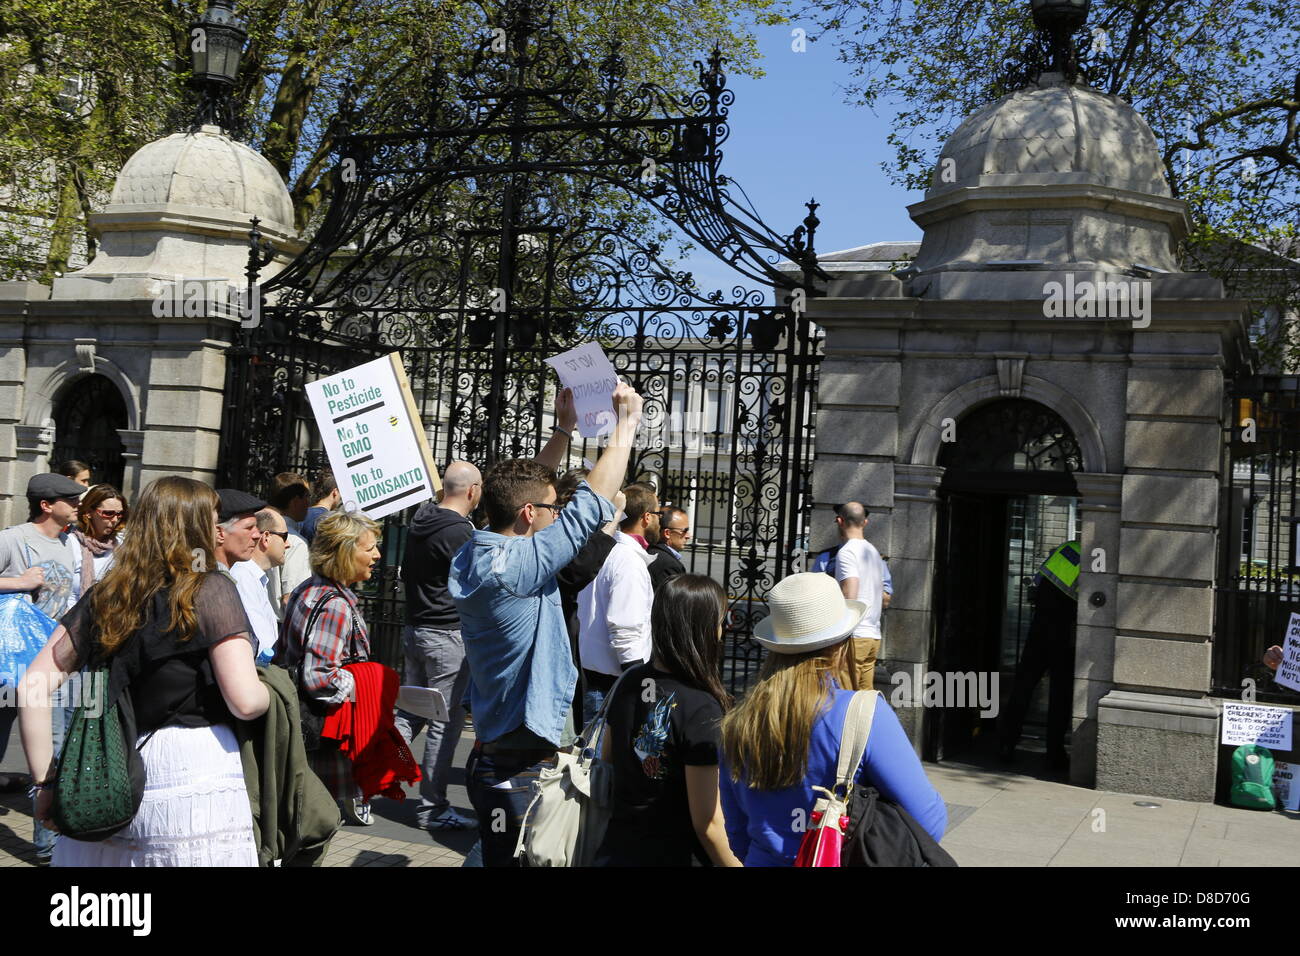
[[[803,203],[816,198],[819,252],[919,239],[906,206],[922,195],[894,186],[880,169],[893,159],[885,142],[893,116],[889,104],[876,113],[846,104],[850,68],[836,60],[824,39],[794,52],[793,26],[757,30],[767,75],[727,78],[736,103],[722,170],[745,187],[763,221],[779,233],[790,233],[807,212]],[[703,252],[682,268],[694,272],[705,289],[729,293],[734,285],[734,273]]]

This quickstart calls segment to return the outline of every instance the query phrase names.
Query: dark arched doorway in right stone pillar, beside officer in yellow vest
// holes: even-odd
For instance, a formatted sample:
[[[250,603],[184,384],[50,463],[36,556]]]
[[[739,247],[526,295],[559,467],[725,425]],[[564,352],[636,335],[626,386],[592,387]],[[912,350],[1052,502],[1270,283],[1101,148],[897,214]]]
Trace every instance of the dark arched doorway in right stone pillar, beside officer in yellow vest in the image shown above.
[[[1010,698],[1028,633],[1028,587],[1057,545],[1078,536],[1083,470],[1079,444],[1054,411],[998,399],[963,415],[940,449],[932,670],[966,688],[966,704],[927,719],[931,760],[997,758],[998,715]],[[996,684],[993,676],[996,675]],[[972,691],[978,693],[972,693]],[[979,695],[987,693],[980,702]],[[1045,749],[1046,682],[1030,708],[1018,769],[1034,771]],[[993,704],[994,706],[989,706]],[[1045,767],[1044,767],[1045,769]]]

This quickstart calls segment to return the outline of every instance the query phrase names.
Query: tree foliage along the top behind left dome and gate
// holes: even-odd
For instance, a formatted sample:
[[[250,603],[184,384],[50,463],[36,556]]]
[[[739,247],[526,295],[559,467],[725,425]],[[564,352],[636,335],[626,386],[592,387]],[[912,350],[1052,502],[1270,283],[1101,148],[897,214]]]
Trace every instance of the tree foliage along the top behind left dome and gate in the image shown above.
[[[250,39],[235,99],[247,138],[280,172],[296,225],[328,200],[338,107],[429,95],[430,60],[465,62],[495,5],[446,0],[248,0]],[[556,0],[555,22],[576,53],[599,59],[623,42],[630,77],[686,91],[692,61],[719,42],[731,69],[757,73],[754,23],[775,0]],[[68,268],[86,216],[144,143],[183,125],[188,25],[202,0],[6,0],[0,10],[0,278],[49,281]],[[485,7],[488,8],[485,12]],[[69,96],[69,85],[79,94]],[[8,207],[8,209],[5,209]],[[8,213],[8,215],[6,215]]]

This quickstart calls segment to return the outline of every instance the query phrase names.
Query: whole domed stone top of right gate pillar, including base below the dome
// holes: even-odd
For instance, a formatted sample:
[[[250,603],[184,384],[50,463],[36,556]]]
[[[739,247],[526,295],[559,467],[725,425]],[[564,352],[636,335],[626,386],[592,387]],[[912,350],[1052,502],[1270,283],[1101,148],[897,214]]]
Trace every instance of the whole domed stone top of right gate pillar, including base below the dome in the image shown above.
[[[1178,242],[1190,226],[1147,121],[1118,96],[1058,73],[962,122],[926,198],[907,212],[924,230],[913,261],[923,276],[1178,272]],[[982,287],[993,294],[1011,285]],[[974,286],[936,278],[916,287],[957,295]]]

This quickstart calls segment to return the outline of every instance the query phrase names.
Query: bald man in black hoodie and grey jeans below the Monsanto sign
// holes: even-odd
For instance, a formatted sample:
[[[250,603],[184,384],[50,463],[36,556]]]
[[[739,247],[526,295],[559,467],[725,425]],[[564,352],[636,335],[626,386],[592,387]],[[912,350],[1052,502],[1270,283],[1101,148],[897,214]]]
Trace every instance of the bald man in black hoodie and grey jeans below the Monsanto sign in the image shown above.
[[[432,687],[442,692],[451,719],[446,723],[396,713],[396,727],[407,740],[415,740],[428,727],[420,782],[420,826],[433,830],[464,830],[477,826],[447,800],[447,774],[465,726],[460,700],[469,684],[465,645],[460,639],[460,617],[447,593],[451,558],[474,533],[469,512],[478,507],[484,479],[469,462],[452,462],[442,475],[442,501],[426,501],[411,520],[402,580],[407,585],[407,627],[402,635],[406,650],[404,683]]]

